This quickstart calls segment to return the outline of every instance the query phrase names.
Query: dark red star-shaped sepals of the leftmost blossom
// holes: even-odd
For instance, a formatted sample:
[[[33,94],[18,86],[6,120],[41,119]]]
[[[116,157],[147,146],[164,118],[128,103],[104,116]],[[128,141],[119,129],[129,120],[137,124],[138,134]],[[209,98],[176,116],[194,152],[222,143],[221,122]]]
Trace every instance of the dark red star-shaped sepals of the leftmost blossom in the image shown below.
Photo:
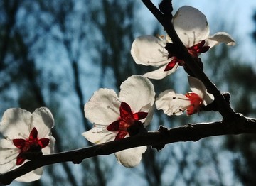
[[[34,127],[29,134],[28,139],[13,139],[14,146],[20,149],[20,153],[17,156],[16,165],[21,165],[26,158],[24,158],[24,153],[42,153],[41,149],[48,146],[50,139],[48,138],[38,138],[38,131]]]

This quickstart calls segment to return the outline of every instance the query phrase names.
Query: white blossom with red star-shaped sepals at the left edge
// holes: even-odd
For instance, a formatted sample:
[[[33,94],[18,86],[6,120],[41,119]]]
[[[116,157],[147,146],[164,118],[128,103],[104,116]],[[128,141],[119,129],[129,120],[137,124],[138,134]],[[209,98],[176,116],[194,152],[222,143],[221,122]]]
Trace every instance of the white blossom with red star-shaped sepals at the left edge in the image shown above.
[[[28,159],[53,152],[55,138],[51,136],[53,115],[46,107],[29,111],[15,108],[4,112],[0,123],[0,173],[6,173],[23,165]],[[19,182],[40,179],[43,168],[16,178]]]

